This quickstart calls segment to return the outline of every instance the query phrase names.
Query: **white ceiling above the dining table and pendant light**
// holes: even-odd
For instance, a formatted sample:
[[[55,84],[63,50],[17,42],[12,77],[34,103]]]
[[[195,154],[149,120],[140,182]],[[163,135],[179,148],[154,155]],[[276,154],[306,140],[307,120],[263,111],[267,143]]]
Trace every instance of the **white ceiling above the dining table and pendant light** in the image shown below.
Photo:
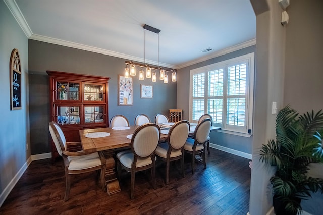
[[[30,39],[144,61],[144,24],[160,29],[159,65],[179,69],[255,43],[250,0],[5,0]],[[211,51],[202,50],[211,48]],[[158,35],[146,30],[146,63]]]

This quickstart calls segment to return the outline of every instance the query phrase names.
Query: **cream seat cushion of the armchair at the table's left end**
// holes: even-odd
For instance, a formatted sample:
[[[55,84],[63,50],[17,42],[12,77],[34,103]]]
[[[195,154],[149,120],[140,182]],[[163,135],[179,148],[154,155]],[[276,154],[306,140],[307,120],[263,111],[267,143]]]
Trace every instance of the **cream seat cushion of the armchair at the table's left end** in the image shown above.
[[[97,152],[82,156],[68,156],[70,162],[68,170],[84,170],[92,167],[101,166],[101,159]]]

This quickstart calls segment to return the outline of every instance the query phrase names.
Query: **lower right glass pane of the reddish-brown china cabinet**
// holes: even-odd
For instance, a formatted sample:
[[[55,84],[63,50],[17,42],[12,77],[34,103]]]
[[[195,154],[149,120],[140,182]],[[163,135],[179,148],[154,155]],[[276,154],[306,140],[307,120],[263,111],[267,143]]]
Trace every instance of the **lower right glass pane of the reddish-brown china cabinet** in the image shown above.
[[[88,123],[104,123],[104,105],[85,106],[84,107],[84,122]]]

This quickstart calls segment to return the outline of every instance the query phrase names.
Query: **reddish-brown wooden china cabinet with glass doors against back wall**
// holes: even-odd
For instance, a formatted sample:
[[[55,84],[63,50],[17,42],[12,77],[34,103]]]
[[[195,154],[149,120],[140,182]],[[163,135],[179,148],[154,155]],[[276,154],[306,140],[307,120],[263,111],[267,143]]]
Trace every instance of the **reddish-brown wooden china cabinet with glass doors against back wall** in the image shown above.
[[[50,121],[61,126],[66,141],[79,142],[80,129],[107,127],[109,77],[46,72],[49,75]],[[51,142],[52,162],[58,156]]]

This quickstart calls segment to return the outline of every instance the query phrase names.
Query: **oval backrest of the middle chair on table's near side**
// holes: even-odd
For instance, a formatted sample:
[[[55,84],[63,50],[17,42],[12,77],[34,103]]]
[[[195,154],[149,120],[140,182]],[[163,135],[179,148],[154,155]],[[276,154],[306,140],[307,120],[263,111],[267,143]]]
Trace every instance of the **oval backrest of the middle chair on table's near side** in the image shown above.
[[[184,147],[189,132],[190,123],[187,120],[175,123],[168,133],[168,143],[172,149],[178,150]]]

